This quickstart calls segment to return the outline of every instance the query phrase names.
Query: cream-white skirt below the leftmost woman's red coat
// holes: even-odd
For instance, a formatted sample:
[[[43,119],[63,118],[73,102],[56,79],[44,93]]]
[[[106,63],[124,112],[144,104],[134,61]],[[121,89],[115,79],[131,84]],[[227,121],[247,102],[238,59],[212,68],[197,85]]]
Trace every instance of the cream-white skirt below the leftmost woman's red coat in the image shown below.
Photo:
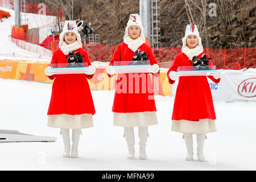
[[[48,127],[56,127],[60,129],[85,129],[93,127],[92,114],[59,114],[48,115]]]

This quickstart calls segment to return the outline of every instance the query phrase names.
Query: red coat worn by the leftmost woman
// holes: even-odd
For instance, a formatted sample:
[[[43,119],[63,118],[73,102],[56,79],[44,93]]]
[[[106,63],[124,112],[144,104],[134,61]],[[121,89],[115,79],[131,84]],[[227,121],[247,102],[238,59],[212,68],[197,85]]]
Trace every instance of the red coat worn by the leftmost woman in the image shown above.
[[[79,48],[84,63],[91,65],[88,53]],[[51,64],[68,63],[64,53],[57,49],[53,52]],[[95,114],[92,94],[90,93],[89,84],[86,78],[92,78],[93,75],[85,74],[68,74],[48,76],[51,80],[55,78],[52,85],[52,96],[49,104],[48,115],[53,114]]]

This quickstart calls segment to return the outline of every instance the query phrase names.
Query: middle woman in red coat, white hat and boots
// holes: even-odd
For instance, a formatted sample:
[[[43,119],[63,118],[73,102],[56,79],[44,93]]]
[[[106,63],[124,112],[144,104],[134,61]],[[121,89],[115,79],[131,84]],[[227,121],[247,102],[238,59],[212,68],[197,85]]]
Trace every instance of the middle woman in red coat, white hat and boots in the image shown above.
[[[113,67],[117,61],[132,61],[135,51],[140,49],[150,55],[148,60],[152,65],[148,68],[151,73],[159,73],[158,63],[152,48],[145,44],[141,18],[138,14],[131,14],[123,43],[115,48],[107,72],[110,75],[118,73],[118,68]],[[150,73],[124,73],[118,74],[113,109],[114,126],[122,126],[128,146],[128,158],[134,159],[134,127],[139,130],[140,159],[146,159],[146,141],[148,126],[157,125],[154,92],[150,80]]]

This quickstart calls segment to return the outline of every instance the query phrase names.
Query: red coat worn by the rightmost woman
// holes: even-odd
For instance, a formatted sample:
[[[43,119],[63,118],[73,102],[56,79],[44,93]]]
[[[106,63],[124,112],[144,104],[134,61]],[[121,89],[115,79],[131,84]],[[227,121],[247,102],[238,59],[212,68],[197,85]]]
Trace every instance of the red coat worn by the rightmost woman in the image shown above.
[[[198,58],[201,57],[202,52]],[[206,54],[206,53],[204,53]],[[207,54],[206,54],[207,55]],[[209,55],[207,55],[209,58]],[[171,71],[177,71],[179,66],[191,66],[191,60],[183,53],[179,53],[175,56],[174,62],[171,68],[167,72],[167,77],[170,84],[174,84],[174,80],[171,80],[169,73]],[[212,60],[209,60],[209,65],[212,64]],[[213,76],[208,76],[210,80],[218,83],[220,78],[215,80]],[[174,110],[172,111],[172,120],[189,120],[199,121],[199,119],[216,119],[212,93],[210,92],[209,83],[206,76],[181,76],[179,77],[179,84],[176,90],[176,96],[174,101]]]

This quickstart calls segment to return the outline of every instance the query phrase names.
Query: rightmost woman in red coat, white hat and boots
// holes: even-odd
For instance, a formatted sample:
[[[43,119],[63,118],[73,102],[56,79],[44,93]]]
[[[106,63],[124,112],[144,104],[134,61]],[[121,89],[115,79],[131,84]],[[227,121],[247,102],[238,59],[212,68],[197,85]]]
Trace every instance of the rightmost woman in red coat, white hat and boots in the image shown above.
[[[201,38],[195,24],[189,24],[182,39],[181,52],[175,56],[171,68],[167,72],[170,84],[179,78],[172,112],[172,131],[183,133],[188,154],[186,160],[193,160],[193,136],[197,135],[197,157],[204,161],[203,147],[206,133],[216,131],[216,119],[212,93],[206,76],[179,77],[177,68],[192,66],[192,57],[200,58],[203,54]],[[209,58],[209,55],[207,55]],[[209,65],[213,65],[209,60]],[[210,80],[220,82],[220,72],[208,75]]]

